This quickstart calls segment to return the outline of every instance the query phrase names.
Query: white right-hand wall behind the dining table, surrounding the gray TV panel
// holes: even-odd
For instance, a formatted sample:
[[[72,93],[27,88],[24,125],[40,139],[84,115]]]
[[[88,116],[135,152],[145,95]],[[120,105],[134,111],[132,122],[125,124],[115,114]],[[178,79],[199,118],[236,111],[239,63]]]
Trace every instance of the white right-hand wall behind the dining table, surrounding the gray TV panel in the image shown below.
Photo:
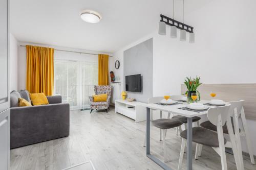
[[[167,26],[166,36],[156,30],[114,53],[112,61],[120,60],[120,68],[116,70],[113,64],[110,68],[123,81],[123,51],[153,37],[153,96],[179,94],[186,76],[201,76],[203,83],[256,83],[255,6],[249,0],[210,1],[185,16],[184,22],[195,28],[195,44],[169,38]],[[256,143],[256,122],[247,123],[252,143]],[[247,151],[244,141],[243,150]],[[256,155],[255,145],[253,152]]]

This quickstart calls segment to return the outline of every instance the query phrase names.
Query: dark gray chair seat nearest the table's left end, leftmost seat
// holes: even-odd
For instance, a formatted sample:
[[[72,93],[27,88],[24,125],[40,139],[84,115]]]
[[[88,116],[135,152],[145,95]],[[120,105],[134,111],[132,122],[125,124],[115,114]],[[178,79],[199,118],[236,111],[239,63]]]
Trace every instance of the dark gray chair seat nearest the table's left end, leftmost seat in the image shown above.
[[[160,118],[153,120],[152,124],[159,129],[170,129],[181,126],[183,123],[178,119]]]

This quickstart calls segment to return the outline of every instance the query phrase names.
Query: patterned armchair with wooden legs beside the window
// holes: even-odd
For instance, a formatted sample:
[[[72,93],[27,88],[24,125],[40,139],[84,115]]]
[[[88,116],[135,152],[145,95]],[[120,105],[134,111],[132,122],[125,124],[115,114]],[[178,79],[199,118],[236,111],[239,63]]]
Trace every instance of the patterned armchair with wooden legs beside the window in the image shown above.
[[[108,113],[108,109],[110,107],[111,91],[112,91],[112,86],[94,86],[94,92],[96,95],[107,93],[108,98],[106,99],[106,102],[94,102],[93,96],[89,96],[91,113],[94,109],[96,110],[105,109],[105,111]]]

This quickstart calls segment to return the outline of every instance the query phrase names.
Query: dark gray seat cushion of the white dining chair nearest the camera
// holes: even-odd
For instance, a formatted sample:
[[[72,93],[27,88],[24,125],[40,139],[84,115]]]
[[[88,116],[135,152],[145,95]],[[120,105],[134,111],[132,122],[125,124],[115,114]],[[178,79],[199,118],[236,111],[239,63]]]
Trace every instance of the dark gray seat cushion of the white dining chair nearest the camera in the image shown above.
[[[199,144],[207,145],[209,147],[218,148],[219,147],[219,140],[218,134],[211,130],[202,128],[202,127],[195,127],[192,130],[193,133],[193,141]],[[180,133],[180,136],[187,139],[187,130],[184,130]],[[224,138],[224,143],[227,140]]]

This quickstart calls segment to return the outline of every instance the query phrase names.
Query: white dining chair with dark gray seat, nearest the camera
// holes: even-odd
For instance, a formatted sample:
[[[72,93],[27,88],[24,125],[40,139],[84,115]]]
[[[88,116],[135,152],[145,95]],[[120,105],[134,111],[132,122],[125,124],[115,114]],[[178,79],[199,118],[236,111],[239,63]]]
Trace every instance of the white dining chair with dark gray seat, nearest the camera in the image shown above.
[[[207,145],[208,147],[214,149],[220,155],[222,170],[227,170],[225,146],[231,145],[231,143],[224,138],[222,130],[222,126],[226,123],[228,117],[230,118],[229,108],[230,104],[227,104],[226,106],[210,108],[208,110],[208,119],[210,123],[214,124],[217,127],[217,133],[202,127],[194,127],[192,129],[193,142]],[[232,130],[231,120],[227,122],[227,128],[230,131]],[[183,161],[184,150],[187,140],[187,130],[182,131],[180,133],[180,136],[182,137],[182,142],[178,170],[181,169]]]

